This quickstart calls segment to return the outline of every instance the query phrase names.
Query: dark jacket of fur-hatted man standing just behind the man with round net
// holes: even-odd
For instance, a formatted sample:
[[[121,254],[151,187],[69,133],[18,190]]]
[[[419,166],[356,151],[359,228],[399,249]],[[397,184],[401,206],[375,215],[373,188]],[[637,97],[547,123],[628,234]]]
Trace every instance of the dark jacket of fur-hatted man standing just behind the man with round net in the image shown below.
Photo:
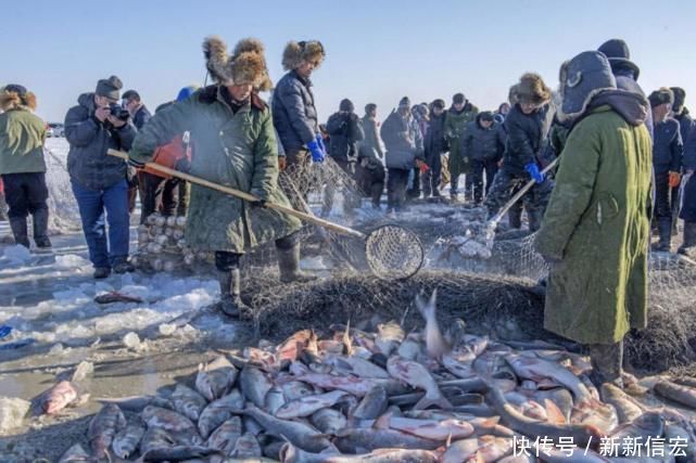
[[[271,101],[274,126],[284,151],[306,149],[319,133],[312,82],[294,70],[276,86]]]

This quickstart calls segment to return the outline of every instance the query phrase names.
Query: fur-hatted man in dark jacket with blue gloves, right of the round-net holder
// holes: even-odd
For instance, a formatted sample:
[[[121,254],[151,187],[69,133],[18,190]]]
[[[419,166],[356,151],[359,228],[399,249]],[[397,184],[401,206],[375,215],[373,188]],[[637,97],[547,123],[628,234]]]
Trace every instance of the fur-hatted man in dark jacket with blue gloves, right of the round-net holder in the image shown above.
[[[290,41],[282,53],[282,66],[288,74],[276,86],[271,110],[284,151],[279,158],[280,168],[287,167],[291,175],[302,175],[309,155],[315,163],[326,157],[309,80],[325,57],[324,46],[317,40]]]

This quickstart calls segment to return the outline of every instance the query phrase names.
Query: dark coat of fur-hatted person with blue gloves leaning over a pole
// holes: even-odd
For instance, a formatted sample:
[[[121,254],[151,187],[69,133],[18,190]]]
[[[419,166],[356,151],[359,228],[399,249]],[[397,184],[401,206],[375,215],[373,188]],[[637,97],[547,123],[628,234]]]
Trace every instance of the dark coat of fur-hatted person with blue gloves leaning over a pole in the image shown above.
[[[536,156],[547,142],[548,131],[554,119],[554,111],[549,104],[542,106],[532,114],[524,114],[516,104],[505,118],[505,154],[503,169],[517,177],[528,176],[524,166],[539,163]]]

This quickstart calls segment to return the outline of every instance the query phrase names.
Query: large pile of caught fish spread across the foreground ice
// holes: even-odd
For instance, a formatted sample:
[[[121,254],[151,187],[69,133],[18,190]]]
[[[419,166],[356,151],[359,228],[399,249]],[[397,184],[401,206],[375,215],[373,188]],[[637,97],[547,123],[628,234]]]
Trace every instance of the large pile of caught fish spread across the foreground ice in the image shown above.
[[[417,299],[422,333],[304,330],[219,356],[166,393],[101,399],[89,451],[75,445],[61,462],[696,461],[694,422],[676,409],[610,384],[597,391],[587,359],[544,342],[504,344],[461,321],[443,335],[434,301]],[[696,408],[694,386],[663,381],[655,393]],[[602,439],[648,436],[682,439],[684,456],[599,452]],[[543,449],[516,452],[537,437]]]

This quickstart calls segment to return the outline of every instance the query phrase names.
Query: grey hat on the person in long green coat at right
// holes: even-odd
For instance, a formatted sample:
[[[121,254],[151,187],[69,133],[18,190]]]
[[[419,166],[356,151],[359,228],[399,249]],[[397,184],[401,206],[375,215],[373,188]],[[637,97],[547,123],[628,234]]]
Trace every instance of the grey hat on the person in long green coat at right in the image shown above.
[[[559,72],[561,103],[557,113],[560,121],[575,119],[599,93],[616,90],[607,56],[598,51],[585,51],[565,62]]]

